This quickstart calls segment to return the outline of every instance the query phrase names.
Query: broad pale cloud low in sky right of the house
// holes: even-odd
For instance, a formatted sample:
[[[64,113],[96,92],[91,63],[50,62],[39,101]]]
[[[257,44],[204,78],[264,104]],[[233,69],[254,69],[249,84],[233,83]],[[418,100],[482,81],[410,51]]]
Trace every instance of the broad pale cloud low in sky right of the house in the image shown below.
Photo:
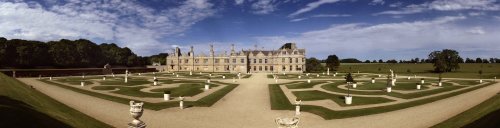
[[[295,37],[256,37],[261,44],[274,46],[283,42],[297,42],[308,50],[309,56],[325,57],[337,54],[342,58],[357,57],[408,58],[425,57],[432,50],[451,48],[459,51],[498,51],[500,27],[461,26],[457,21],[464,16],[447,16],[434,20],[385,23],[339,24],[326,29],[303,32]]]

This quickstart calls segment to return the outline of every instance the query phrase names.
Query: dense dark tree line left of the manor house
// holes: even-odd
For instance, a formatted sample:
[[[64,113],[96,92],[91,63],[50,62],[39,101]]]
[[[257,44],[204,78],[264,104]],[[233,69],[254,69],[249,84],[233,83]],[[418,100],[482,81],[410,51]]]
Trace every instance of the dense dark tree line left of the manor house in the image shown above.
[[[114,43],[97,45],[86,39],[41,42],[0,37],[1,68],[100,68],[108,63],[140,67],[151,64],[152,60],[161,62],[167,55],[141,57],[127,47]]]

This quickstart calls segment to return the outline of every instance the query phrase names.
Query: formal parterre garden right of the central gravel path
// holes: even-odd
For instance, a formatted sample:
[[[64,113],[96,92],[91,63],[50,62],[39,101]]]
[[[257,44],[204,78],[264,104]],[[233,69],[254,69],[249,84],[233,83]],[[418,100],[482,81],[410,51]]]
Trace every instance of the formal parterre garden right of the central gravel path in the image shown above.
[[[293,82],[270,84],[273,110],[296,110],[340,119],[390,112],[473,91],[496,79],[383,73],[271,74],[271,79]]]

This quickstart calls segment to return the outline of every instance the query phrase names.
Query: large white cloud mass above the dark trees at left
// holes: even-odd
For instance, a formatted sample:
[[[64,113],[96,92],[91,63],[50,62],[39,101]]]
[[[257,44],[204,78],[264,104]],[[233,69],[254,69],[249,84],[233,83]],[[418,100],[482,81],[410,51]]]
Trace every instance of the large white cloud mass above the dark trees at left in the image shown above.
[[[139,55],[150,55],[168,47],[161,38],[182,34],[215,14],[206,0],[186,0],[163,10],[131,0],[49,3],[42,7],[37,2],[0,2],[0,35],[42,41],[87,38],[116,42]]]

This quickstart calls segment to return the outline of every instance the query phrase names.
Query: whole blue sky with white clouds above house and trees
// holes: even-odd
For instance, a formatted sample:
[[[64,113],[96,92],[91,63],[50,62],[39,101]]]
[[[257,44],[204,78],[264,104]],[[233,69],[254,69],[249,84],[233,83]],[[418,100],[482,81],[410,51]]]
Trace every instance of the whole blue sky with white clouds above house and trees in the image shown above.
[[[450,48],[500,57],[497,0],[0,0],[0,36],[90,39],[139,55],[277,49],[308,57],[409,59]]]

